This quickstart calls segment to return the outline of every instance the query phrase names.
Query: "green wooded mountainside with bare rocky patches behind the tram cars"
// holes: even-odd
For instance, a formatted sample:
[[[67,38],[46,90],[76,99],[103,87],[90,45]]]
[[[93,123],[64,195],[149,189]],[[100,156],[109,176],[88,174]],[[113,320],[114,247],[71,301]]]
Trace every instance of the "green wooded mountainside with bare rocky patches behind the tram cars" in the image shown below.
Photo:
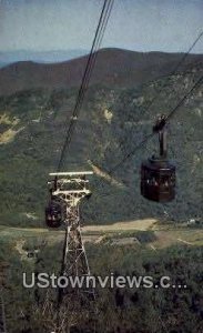
[[[112,54],[114,52],[120,54],[120,51],[112,51]],[[140,63],[144,58],[133,52],[121,53],[126,58],[140,57]],[[101,59],[108,54],[109,51],[101,52]],[[164,60],[166,56],[149,53],[145,57],[148,63],[153,63],[154,59]],[[31,64],[27,65],[30,68]],[[105,67],[111,71],[108,64]],[[154,77],[160,73],[160,67],[156,68],[153,68]],[[123,69],[123,80],[128,82],[129,75],[131,88],[123,88],[128,84],[121,80],[122,89],[113,84],[111,88],[97,84],[89,89],[63,165],[67,171],[91,168],[95,171],[91,179],[93,195],[82,209],[85,223],[142,218],[176,222],[203,219],[203,87],[170,122],[169,155],[176,164],[177,174],[177,195],[173,202],[158,204],[140,195],[140,164],[158,150],[158,138],[123,163],[113,179],[106,172],[151,133],[155,117],[168,114],[202,74],[203,62],[192,62],[177,74],[132,88],[130,72]],[[166,87],[149,109],[163,85]],[[78,89],[27,89],[0,98],[1,224],[42,225],[48,174],[55,171],[77,92]]]

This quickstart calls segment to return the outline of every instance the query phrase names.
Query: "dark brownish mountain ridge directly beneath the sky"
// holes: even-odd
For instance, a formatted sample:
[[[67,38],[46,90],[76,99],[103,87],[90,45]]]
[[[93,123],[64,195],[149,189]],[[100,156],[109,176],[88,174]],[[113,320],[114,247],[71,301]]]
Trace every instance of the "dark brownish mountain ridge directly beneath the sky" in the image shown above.
[[[183,54],[141,53],[120,49],[99,51],[91,84],[138,87],[169,74]],[[203,56],[191,54],[187,63],[203,61]],[[0,69],[0,95],[29,89],[69,89],[78,87],[87,63],[87,56],[62,63],[42,64],[23,61]]]

